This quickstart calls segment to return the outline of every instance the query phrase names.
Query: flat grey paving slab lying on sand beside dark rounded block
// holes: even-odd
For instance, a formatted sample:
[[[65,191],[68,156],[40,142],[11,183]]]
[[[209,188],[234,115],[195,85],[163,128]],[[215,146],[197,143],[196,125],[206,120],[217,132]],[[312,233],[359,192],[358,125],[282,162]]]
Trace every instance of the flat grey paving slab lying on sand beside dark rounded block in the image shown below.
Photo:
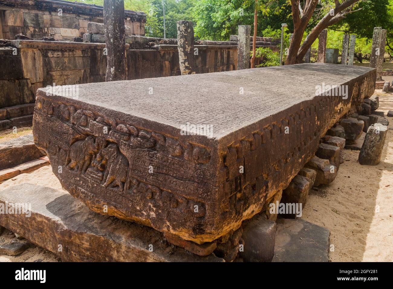
[[[302,219],[279,219],[272,262],[329,262],[327,228]]]

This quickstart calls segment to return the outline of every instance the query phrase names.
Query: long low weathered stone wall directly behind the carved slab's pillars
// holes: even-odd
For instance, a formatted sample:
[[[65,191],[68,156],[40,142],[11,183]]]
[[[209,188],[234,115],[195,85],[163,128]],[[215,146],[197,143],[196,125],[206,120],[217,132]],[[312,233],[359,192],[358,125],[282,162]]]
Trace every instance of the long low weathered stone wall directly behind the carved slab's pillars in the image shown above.
[[[105,44],[13,40],[0,48],[0,108],[34,103],[38,88],[105,81]],[[127,48],[129,48],[127,44]],[[177,48],[127,50],[127,79],[180,75]],[[200,46],[197,73],[235,70],[236,46]]]

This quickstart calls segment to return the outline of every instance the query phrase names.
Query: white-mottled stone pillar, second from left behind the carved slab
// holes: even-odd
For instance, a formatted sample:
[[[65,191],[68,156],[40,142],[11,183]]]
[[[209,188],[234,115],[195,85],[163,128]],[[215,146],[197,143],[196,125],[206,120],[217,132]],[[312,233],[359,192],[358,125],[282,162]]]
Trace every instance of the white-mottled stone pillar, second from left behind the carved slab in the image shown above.
[[[176,26],[180,71],[182,75],[195,74],[193,22],[182,20]]]

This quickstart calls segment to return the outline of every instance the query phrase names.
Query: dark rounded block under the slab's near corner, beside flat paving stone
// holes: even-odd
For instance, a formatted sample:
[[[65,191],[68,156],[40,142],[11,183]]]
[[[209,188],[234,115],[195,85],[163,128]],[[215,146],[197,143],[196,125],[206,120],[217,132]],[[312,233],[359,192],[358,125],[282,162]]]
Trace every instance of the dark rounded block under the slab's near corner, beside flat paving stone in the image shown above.
[[[263,216],[253,217],[244,226],[243,250],[239,256],[245,262],[270,262],[274,256],[276,223]]]

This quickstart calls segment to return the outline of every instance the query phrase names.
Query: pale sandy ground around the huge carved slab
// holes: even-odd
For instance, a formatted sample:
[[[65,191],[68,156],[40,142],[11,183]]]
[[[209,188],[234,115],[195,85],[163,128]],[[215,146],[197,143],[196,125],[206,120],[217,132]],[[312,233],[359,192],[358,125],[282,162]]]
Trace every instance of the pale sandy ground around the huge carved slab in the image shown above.
[[[393,110],[393,93],[376,92],[380,95],[378,110],[385,114]],[[302,218],[330,230],[330,243],[334,245],[331,261],[393,261],[393,118],[388,119],[391,124],[380,164],[361,166],[358,151],[343,150],[345,161],[334,182],[309,193]],[[45,166],[2,182],[0,190],[22,182],[51,184],[61,189],[50,166]],[[7,230],[0,237],[6,234],[14,237]],[[19,256],[0,256],[0,261],[60,260],[55,254],[33,246]]]

